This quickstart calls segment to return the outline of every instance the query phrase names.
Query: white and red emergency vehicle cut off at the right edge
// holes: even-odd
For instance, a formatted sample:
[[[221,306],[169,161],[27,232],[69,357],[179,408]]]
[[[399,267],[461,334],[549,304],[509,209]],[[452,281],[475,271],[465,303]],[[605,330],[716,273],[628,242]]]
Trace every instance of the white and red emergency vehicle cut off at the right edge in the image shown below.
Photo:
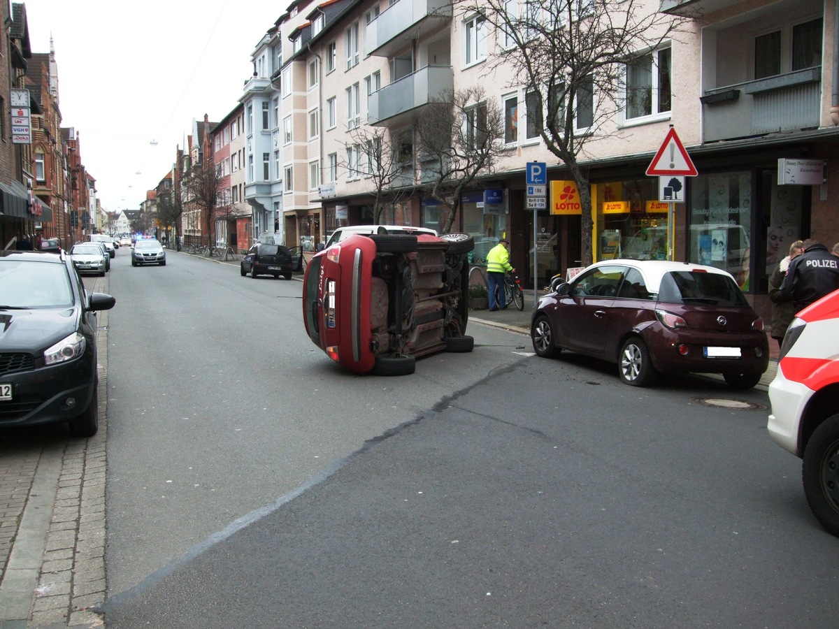
[[[839,290],[795,315],[769,384],[769,434],[803,459],[804,494],[839,536]]]

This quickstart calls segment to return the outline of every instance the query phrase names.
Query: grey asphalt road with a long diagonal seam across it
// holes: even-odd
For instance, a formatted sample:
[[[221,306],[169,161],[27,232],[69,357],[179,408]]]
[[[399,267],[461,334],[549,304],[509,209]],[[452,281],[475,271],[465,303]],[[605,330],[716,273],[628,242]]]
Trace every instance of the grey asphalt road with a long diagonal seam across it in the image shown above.
[[[765,392],[480,325],[354,377],[295,340],[290,283],[172,258],[112,277],[109,629],[835,625],[839,540]]]

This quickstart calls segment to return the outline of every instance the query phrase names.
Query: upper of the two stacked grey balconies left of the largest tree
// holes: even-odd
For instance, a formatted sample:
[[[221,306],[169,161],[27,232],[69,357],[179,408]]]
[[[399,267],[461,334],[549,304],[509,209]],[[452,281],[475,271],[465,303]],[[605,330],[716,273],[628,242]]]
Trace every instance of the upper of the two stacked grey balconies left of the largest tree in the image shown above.
[[[367,24],[364,54],[393,56],[411,39],[420,39],[451,21],[449,0],[399,0]]]

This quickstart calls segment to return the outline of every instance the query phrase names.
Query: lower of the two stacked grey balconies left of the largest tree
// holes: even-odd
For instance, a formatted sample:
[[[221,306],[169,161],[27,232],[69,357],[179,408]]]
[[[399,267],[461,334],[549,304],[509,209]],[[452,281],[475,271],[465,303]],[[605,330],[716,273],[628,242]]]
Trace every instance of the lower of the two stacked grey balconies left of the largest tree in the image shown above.
[[[368,122],[374,126],[393,126],[407,122],[410,112],[428,105],[430,101],[439,100],[446,91],[451,97],[454,85],[451,65],[426,65],[373,92],[370,95]]]

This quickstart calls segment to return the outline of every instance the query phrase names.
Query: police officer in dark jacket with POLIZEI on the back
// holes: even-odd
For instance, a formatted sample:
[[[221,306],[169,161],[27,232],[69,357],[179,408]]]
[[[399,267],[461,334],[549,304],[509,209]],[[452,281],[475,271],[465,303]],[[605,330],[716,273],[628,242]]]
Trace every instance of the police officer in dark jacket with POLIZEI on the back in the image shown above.
[[[811,238],[801,246],[804,253],[789,263],[779,290],[792,299],[796,312],[839,289],[839,257]]]

